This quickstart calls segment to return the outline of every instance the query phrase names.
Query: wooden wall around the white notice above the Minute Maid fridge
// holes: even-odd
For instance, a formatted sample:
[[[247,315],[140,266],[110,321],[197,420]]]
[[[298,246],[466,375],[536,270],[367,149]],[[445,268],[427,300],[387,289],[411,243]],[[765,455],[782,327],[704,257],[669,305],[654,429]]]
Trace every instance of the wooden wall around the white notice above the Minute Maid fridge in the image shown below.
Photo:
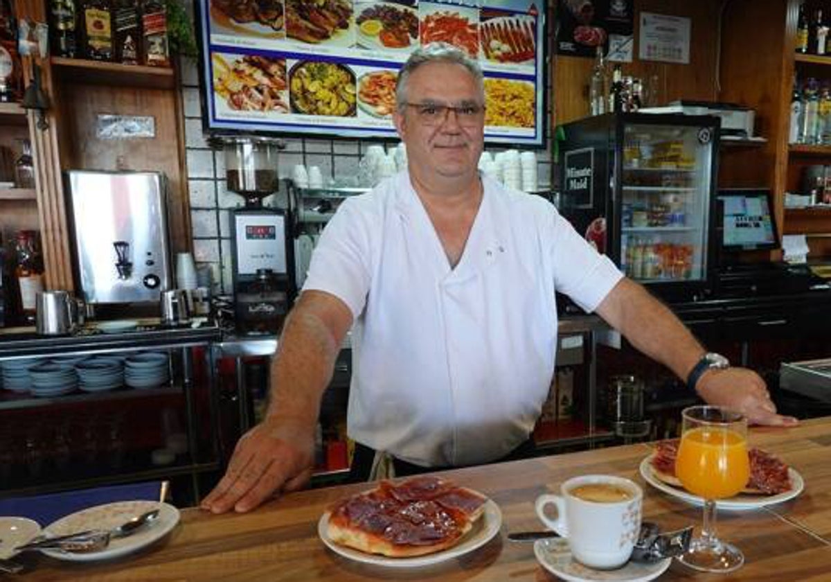
[[[631,63],[622,63],[624,75],[652,83],[656,78],[658,104],[676,99],[713,101],[718,62],[719,0],[635,0],[635,46]],[[690,64],[642,62],[637,58],[640,12],[691,18]],[[747,35],[744,35],[747,42]],[[553,55],[554,126],[588,115],[588,81],[593,59]]]

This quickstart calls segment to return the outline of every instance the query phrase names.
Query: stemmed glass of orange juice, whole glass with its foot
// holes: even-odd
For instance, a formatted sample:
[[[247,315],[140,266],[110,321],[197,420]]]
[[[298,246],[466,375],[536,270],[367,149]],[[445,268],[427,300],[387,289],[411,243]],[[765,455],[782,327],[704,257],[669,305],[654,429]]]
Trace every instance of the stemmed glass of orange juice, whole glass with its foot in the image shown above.
[[[732,572],[745,563],[745,556],[715,535],[715,502],[735,496],[750,478],[747,419],[708,406],[685,408],[682,418],[676,476],[687,491],[704,500],[704,524],[701,536],[679,560],[704,572]]]

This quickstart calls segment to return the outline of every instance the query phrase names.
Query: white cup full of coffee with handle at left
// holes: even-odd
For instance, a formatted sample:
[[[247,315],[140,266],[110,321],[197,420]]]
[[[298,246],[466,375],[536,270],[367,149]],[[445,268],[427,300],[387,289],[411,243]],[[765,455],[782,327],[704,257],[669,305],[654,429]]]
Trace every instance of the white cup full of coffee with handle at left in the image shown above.
[[[641,530],[643,491],[633,481],[611,475],[574,477],[561,495],[543,495],[535,507],[543,524],[568,540],[575,560],[597,570],[627,563]],[[557,518],[546,515],[557,507]]]

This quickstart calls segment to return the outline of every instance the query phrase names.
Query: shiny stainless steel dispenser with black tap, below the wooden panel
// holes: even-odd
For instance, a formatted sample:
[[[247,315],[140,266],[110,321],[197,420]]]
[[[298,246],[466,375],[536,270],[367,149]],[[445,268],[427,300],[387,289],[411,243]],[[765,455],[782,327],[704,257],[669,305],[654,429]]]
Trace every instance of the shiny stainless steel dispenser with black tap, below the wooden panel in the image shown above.
[[[66,180],[86,302],[158,301],[171,286],[165,176],[70,170]]]

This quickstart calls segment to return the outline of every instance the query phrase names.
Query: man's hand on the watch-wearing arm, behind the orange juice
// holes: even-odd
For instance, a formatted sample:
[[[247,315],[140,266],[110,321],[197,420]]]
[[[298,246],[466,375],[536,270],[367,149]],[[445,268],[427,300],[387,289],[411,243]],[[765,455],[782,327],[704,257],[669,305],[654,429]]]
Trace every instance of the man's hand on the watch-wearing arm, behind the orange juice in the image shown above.
[[[794,417],[776,414],[776,406],[770,400],[765,381],[745,367],[704,372],[696,392],[708,404],[741,412],[750,424],[792,427],[799,422]]]

